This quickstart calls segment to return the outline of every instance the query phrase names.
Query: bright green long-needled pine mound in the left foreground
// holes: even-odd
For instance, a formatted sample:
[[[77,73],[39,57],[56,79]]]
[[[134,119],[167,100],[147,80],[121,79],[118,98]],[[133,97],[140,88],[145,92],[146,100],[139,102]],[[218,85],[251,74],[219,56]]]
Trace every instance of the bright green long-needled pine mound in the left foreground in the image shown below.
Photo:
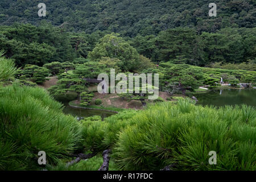
[[[0,168],[39,169],[38,152],[48,164],[67,158],[80,144],[80,124],[42,88],[0,88]]]

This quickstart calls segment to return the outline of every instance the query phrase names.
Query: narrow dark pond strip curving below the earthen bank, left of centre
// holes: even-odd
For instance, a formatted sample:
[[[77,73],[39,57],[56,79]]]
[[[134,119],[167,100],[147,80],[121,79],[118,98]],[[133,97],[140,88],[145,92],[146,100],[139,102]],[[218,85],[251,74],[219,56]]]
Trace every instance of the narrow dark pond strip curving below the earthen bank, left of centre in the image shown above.
[[[71,114],[74,117],[76,117],[78,120],[81,120],[86,117],[91,117],[94,115],[100,115],[102,120],[106,117],[110,117],[113,114],[117,114],[110,111],[102,111],[102,110],[93,110],[93,109],[79,109],[74,108],[68,105],[68,101],[61,101],[62,104],[64,104],[63,112],[65,114]]]

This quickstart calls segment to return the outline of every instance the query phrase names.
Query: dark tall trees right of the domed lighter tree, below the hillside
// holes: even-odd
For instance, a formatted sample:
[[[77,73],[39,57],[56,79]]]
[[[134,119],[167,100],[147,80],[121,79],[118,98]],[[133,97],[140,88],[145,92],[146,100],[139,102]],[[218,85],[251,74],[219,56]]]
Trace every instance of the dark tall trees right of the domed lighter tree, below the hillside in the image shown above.
[[[197,34],[193,28],[171,28],[156,37],[151,36],[150,40],[148,36],[138,35],[131,39],[131,44],[155,63],[171,61],[174,64],[254,71],[251,60],[255,59],[255,30],[223,28],[214,33]],[[223,63],[223,67],[218,63]]]

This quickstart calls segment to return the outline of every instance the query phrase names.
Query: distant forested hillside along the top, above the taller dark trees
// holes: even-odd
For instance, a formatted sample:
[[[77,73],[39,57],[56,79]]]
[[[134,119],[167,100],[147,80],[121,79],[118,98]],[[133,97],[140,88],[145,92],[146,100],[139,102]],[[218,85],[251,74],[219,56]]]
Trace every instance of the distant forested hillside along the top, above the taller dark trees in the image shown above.
[[[45,3],[47,16],[38,16],[38,4]],[[208,0],[1,0],[0,23],[39,25],[46,19],[68,30],[119,32],[122,36],[156,35],[175,27],[216,32],[225,27],[252,28],[256,24],[254,0],[215,0],[217,17],[209,17]]]

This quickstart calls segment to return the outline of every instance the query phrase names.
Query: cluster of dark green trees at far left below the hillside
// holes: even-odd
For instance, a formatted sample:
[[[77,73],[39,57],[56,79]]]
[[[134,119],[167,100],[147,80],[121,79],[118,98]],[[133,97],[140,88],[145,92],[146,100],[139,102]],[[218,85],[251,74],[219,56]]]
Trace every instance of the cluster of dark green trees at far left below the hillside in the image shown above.
[[[6,51],[7,57],[22,67],[26,64],[42,66],[52,60],[72,60],[70,38],[61,31],[61,28],[43,22],[39,27],[31,24],[1,26],[0,47]]]

